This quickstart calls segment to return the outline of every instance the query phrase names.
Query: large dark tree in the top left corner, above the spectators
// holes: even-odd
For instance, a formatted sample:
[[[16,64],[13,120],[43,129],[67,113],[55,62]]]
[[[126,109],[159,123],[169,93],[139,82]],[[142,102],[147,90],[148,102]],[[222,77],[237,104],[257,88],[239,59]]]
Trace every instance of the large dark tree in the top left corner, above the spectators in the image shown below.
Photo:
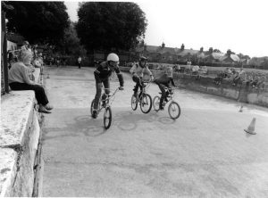
[[[10,1],[14,9],[6,13],[8,31],[19,33],[30,43],[57,44],[69,26],[63,2]]]

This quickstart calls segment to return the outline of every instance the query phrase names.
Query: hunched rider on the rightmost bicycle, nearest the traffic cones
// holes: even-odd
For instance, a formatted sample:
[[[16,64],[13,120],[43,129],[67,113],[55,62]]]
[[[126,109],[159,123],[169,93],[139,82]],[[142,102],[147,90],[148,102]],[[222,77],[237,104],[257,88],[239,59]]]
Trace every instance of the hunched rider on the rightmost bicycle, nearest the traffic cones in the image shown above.
[[[172,78],[172,68],[168,67],[167,70],[161,75],[159,78],[155,79],[155,84],[160,88],[162,95],[160,98],[159,110],[163,110],[163,99],[166,99],[168,93],[171,92],[170,83],[172,83],[173,87],[175,86],[174,80]],[[165,92],[165,88],[169,89],[169,92]]]

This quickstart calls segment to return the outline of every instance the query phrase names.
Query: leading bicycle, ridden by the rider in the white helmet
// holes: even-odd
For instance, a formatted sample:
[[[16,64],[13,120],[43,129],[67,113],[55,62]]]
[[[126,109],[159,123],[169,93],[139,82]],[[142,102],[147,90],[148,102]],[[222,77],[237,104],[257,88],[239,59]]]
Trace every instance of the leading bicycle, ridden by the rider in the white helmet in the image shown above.
[[[103,88],[103,89],[108,89],[108,88]],[[104,113],[105,129],[108,129],[108,128],[111,127],[111,124],[112,124],[112,108],[111,108],[111,105],[112,105],[113,100],[115,98],[115,94],[116,94],[116,92],[118,90],[119,90],[119,87],[115,89],[115,91],[113,92],[113,95],[106,95],[104,93],[106,95],[105,100],[102,100],[102,97],[100,97],[100,99],[99,99],[97,114],[100,111],[102,111],[103,109],[105,109],[105,113]],[[93,99],[92,102],[91,102],[91,106],[90,106],[91,115],[93,114],[94,102],[95,102],[95,99]]]

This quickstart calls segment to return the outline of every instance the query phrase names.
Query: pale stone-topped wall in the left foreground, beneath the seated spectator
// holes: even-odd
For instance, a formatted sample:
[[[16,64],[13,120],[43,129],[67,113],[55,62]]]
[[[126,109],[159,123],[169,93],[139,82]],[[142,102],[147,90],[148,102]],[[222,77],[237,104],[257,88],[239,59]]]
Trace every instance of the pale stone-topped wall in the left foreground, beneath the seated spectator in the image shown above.
[[[38,82],[40,70],[34,75]],[[0,197],[32,196],[40,114],[33,91],[11,91],[1,100]]]

